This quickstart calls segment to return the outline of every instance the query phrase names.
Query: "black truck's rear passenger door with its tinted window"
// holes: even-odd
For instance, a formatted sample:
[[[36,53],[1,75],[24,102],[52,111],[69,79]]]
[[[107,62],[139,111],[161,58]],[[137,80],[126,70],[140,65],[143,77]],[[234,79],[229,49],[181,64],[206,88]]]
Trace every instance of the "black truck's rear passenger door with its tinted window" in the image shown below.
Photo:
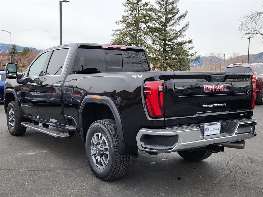
[[[50,51],[45,80],[37,86],[38,111],[40,118],[63,124],[62,81],[70,48]]]

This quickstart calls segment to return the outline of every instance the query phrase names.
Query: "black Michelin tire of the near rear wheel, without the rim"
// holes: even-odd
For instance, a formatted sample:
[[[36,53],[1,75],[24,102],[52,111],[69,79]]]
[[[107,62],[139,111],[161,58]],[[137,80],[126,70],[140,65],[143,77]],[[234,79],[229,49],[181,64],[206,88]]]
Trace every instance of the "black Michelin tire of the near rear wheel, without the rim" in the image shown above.
[[[93,160],[94,157],[96,157],[96,155],[98,154],[98,151],[95,151],[92,156],[92,138],[97,133],[101,133],[108,143],[108,148],[106,150],[108,150],[109,154],[106,154],[107,164],[103,169],[99,168],[99,166],[95,164],[95,162],[97,162],[96,159],[96,161]],[[94,145],[94,148],[95,147],[97,147],[96,144]],[[102,147],[106,146],[104,145]],[[104,149],[102,153],[104,153]],[[93,122],[92,125],[90,125],[86,136],[86,155],[92,172],[96,177],[98,177],[101,180],[113,180],[125,174],[129,166],[130,155],[120,154],[117,127],[116,122],[114,120],[98,120]]]

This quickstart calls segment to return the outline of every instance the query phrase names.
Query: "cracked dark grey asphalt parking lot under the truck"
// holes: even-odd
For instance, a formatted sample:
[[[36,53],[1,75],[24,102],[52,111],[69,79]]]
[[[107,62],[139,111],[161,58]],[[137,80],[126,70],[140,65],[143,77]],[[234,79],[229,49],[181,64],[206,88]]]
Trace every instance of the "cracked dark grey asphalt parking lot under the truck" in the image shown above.
[[[263,196],[263,106],[253,117],[258,135],[244,150],[225,148],[200,162],[140,152],[122,178],[103,182],[79,136],[62,140],[31,129],[11,136],[0,105],[0,196]]]

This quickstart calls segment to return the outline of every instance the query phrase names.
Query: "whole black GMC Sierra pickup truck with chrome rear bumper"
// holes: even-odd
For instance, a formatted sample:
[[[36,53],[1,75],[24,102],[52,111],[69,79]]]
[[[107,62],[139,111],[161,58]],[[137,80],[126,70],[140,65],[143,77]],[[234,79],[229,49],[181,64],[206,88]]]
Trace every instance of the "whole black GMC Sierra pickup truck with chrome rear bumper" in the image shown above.
[[[138,149],[198,161],[256,136],[250,72],[152,72],[143,48],[73,43],[42,51],[23,73],[7,63],[6,77],[10,134],[79,135],[102,180],[121,177]]]

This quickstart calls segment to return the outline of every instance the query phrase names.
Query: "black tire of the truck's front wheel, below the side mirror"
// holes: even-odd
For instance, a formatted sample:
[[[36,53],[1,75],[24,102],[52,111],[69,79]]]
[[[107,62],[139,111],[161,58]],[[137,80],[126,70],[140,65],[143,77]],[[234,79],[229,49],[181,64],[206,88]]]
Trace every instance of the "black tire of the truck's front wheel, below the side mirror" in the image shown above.
[[[10,124],[9,123],[9,112],[11,112],[13,110],[13,118],[11,119],[14,124]],[[25,132],[26,132],[26,127],[23,127],[20,123],[23,122],[22,121],[22,117],[19,114],[18,111],[18,106],[16,105],[16,101],[11,101],[10,103],[8,103],[7,106],[7,111],[6,111],[6,120],[7,120],[7,128],[9,133],[12,136],[22,136]]]

